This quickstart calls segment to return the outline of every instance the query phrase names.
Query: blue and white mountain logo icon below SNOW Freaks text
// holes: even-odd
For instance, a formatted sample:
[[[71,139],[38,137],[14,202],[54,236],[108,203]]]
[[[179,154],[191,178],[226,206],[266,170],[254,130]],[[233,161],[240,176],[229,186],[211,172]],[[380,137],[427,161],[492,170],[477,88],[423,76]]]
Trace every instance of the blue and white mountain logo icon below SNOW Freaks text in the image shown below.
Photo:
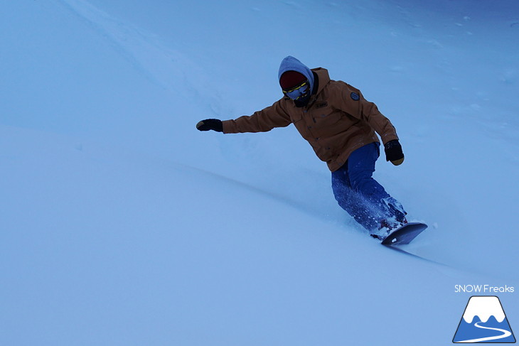
[[[513,343],[515,336],[496,296],[472,296],[452,339],[454,343]]]

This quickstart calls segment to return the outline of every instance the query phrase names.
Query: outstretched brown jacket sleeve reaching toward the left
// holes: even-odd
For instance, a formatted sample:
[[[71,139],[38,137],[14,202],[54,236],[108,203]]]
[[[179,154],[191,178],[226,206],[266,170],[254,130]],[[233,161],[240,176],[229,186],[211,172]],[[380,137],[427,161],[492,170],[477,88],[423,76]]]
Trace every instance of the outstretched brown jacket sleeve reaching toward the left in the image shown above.
[[[284,107],[282,107],[282,102],[283,99],[250,116],[222,121],[223,133],[266,132],[274,129],[274,127],[289,126],[292,121],[290,120],[289,114],[287,114]]]

